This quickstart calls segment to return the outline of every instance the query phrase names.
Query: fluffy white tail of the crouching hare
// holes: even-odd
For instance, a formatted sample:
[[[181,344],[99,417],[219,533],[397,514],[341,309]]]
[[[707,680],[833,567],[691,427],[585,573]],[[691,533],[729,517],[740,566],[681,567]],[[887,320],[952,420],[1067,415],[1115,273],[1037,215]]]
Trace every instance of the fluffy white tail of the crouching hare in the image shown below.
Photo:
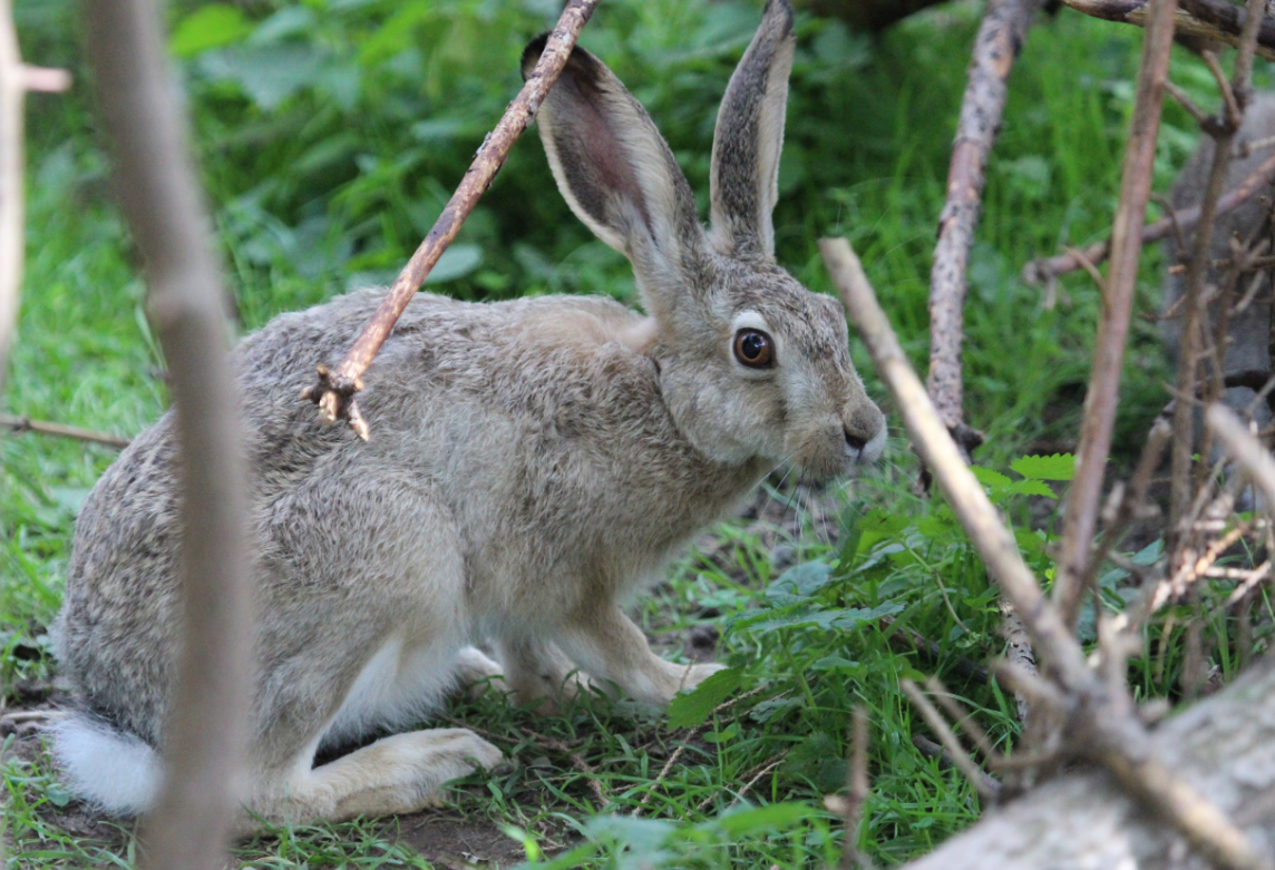
[[[76,797],[111,815],[140,815],[150,809],[163,766],[145,741],[84,713],[71,713],[48,730],[54,758]]]

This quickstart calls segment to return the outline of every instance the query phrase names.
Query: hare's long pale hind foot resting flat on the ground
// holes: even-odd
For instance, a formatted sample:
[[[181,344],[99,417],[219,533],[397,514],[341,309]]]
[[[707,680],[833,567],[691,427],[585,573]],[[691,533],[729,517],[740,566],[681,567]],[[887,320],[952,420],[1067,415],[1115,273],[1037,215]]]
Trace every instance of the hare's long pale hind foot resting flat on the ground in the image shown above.
[[[501,753],[473,731],[432,729],[381,738],[311,768],[302,753],[291,771],[260,783],[251,810],[269,822],[414,813],[432,804],[448,780],[491,769]]]

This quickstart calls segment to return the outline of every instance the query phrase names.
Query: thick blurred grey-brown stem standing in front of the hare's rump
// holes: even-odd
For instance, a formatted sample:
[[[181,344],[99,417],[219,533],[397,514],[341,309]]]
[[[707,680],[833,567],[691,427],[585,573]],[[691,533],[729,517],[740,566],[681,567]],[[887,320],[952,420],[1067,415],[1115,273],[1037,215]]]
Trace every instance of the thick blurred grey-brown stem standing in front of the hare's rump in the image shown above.
[[[87,43],[124,214],[172,373],[181,451],[182,650],[143,865],[221,870],[240,795],[251,656],[246,470],[218,266],[152,0],[89,0]]]

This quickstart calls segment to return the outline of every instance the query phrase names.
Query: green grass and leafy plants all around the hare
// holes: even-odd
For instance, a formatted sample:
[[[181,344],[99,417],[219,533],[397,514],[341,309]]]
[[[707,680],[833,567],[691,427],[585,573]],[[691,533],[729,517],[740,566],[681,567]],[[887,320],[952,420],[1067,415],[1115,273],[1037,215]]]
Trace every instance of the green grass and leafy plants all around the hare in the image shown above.
[[[200,5],[178,4],[177,32]],[[250,330],[404,261],[516,88],[519,51],[551,20],[555,4],[242,6],[251,25],[266,22],[256,36],[191,51],[182,70],[229,289],[241,327]],[[4,405],[130,436],[163,408],[163,363],[147,329],[135,253],[111,205],[73,11],[68,0],[18,4],[26,56],[70,66],[79,84],[65,97],[29,102],[28,267]],[[959,3],[878,41],[831,22],[799,24],[779,259],[812,288],[829,290],[815,241],[847,234],[922,367],[929,257],[977,14]],[[584,38],[648,104],[701,196],[715,103],[756,20],[752,3],[609,0]],[[1139,45],[1135,28],[1063,10],[1031,32],[1015,69],[988,169],[966,313],[966,408],[988,434],[979,455],[988,467],[1007,471],[1025,452],[1074,443],[1096,292],[1082,274],[1067,276],[1062,302],[1048,311],[1019,271],[1033,256],[1105,233]],[[274,66],[263,71],[263,59]],[[1173,76],[1211,104],[1197,61],[1176,55]],[[1192,143],[1190,118],[1167,107],[1159,190]],[[622,259],[594,241],[553,190],[533,136],[518,145],[459,245],[451,280],[435,289],[464,298],[635,296]],[[1156,307],[1158,269],[1158,252],[1149,251],[1141,312]],[[862,349],[854,350],[880,395]],[[1164,404],[1165,372],[1156,329],[1136,320],[1117,467],[1136,453],[1139,433]],[[969,785],[913,746],[910,736],[926,729],[899,680],[937,673],[979,711],[996,740],[1012,744],[1012,702],[994,685],[952,676],[956,656],[982,661],[1000,652],[994,596],[946,508],[909,494],[914,464],[905,441],[895,437],[891,447],[886,466],[847,488],[826,521],[807,518],[796,536],[765,524],[727,524],[715,532],[722,546],[714,559],[687,555],[641,605],[648,631],[671,655],[690,627],[720,629],[719,660],[732,666],[733,695],[754,694],[697,731],[601,698],[551,718],[495,697],[456,703],[448,715],[496,735],[515,763],[459,783],[446,813],[527,832],[541,845],[533,853],[576,850],[562,866],[636,866],[639,855],[680,867],[822,866],[839,853],[841,831],[821,796],[844,785],[849,711],[862,706],[872,720],[873,788],[857,833],[862,850],[896,864],[978,818]],[[60,600],[74,513],[112,457],[74,442],[0,438],[5,687],[55,674],[46,628]],[[793,496],[785,489],[776,498]],[[1044,576],[1047,536],[1030,529],[1048,529],[1048,511],[1039,510],[1040,499],[1034,511],[1023,497],[1006,494],[1003,502]],[[834,536],[836,545],[826,543]],[[844,550],[848,539],[858,546]],[[826,582],[794,597],[778,582],[782,550],[785,560],[827,566]],[[1119,605],[1117,585],[1118,577],[1109,578],[1111,606]],[[881,613],[942,645],[941,661],[895,652],[873,615]],[[1221,639],[1215,655],[1229,675],[1235,655],[1219,619],[1211,625]],[[759,628],[757,620],[770,624]],[[1149,648],[1158,632],[1149,632]],[[1163,666],[1155,656],[1135,664],[1140,694],[1170,693],[1179,641],[1181,629]],[[527,730],[566,744],[592,773]],[[657,782],[680,746],[681,760]],[[10,754],[5,783],[10,867],[131,866],[127,828],[94,839],[59,825],[66,794],[40,753]],[[590,783],[601,786],[602,800]],[[391,841],[371,820],[283,829],[242,845],[240,860],[254,867],[428,866]]]

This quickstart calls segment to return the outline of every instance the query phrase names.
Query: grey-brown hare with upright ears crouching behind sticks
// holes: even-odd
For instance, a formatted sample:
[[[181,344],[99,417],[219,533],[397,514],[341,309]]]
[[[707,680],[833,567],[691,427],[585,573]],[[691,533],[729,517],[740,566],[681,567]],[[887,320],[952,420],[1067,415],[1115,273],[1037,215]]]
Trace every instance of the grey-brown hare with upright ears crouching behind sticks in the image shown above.
[[[880,455],[884,418],[840,306],[774,260],[793,45],[792,10],[771,0],[718,117],[710,231],[597,57],[576,48],[542,106],[557,185],[631,260],[645,315],[608,298],[418,294],[360,397],[367,443],[297,396],[380,293],[279,316],[238,345],[259,587],[245,827],[249,813],[414,811],[497,764],[465,729],[402,732],[467,680],[502,674],[516,701],[553,703],[580,671],[667,704],[718,666],[662,660],[622,606],[776,464],[830,479]],[[150,806],[161,771],[181,645],[177,462],[170,413],[94,487],[56,624],[78,707],[55,755],[78,795],[120,815]]]

